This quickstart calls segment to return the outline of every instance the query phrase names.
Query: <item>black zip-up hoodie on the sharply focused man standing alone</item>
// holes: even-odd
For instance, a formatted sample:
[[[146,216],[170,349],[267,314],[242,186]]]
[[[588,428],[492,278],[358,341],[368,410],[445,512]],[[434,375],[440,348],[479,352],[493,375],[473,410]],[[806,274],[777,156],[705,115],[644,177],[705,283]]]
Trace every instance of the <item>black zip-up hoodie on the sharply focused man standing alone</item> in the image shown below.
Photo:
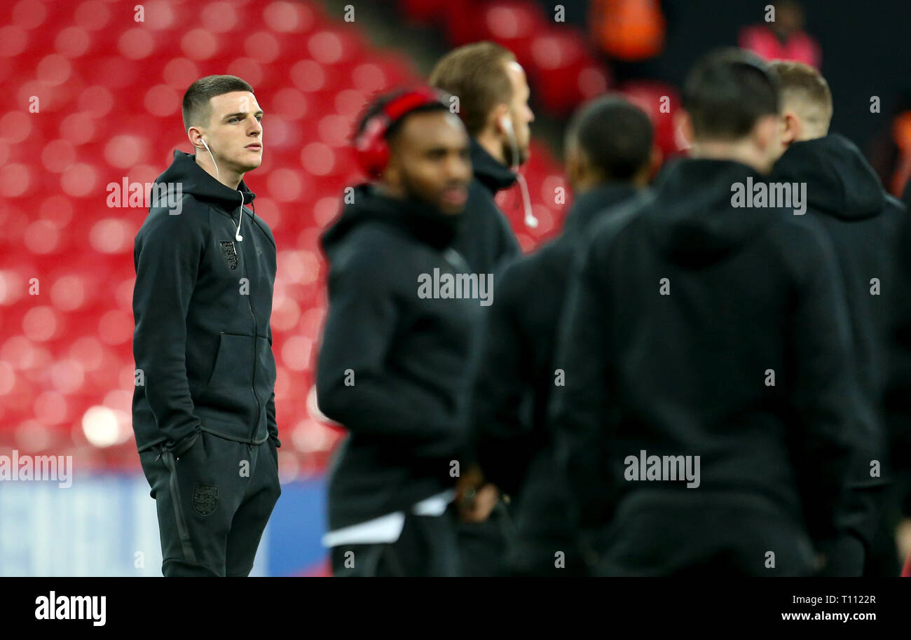
[[[177,215],[153,202],[133,251],[138,450],[165,442],[179,455],[200,430],[280,446],[270,327],[275,240],[242,208],[255,196],[243,181],[225,187],[180,151],[156,184],[183,197]]]

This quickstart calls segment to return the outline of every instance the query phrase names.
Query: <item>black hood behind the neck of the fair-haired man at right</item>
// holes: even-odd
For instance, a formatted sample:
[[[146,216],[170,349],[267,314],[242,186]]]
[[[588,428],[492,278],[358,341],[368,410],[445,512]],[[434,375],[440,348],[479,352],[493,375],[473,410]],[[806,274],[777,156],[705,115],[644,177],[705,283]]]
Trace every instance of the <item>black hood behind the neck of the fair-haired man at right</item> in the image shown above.
[[[885,207],[874,168],[838,134],[793,143],[775,163],[772,179],[805,182],[807,205],[835,218],[871,218]]]

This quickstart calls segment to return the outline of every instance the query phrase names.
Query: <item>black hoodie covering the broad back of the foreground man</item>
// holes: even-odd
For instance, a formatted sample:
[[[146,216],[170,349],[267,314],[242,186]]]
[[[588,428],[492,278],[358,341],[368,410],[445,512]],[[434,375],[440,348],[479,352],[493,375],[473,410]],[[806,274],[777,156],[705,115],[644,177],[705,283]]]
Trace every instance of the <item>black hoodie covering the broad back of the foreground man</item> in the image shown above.
[[[846,470],[864,432],[833,250],[805,216],[732,208],[748,177],[764,180],[683,159],[654,199],[595,232],[554,363],[561,459],[588,529],[639,493],[719,490],[761,496],[825,548],[853,539],[855,552]],[[642,450],[701,456],[699,489],[626,480]]]

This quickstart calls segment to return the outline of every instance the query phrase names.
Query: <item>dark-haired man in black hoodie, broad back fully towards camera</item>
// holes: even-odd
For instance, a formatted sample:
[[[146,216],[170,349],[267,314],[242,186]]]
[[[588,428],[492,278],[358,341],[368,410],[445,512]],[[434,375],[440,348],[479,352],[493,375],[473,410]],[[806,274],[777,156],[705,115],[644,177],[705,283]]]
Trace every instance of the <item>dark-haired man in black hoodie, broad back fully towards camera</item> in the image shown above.
[[[597,573],[859,574],[845,500],[856,427],[844,293],[824,231],[734,208],[780,148],[755,56],[703,58],[683,89],[691,155],[598,229],[555,367],[560,435]]]

